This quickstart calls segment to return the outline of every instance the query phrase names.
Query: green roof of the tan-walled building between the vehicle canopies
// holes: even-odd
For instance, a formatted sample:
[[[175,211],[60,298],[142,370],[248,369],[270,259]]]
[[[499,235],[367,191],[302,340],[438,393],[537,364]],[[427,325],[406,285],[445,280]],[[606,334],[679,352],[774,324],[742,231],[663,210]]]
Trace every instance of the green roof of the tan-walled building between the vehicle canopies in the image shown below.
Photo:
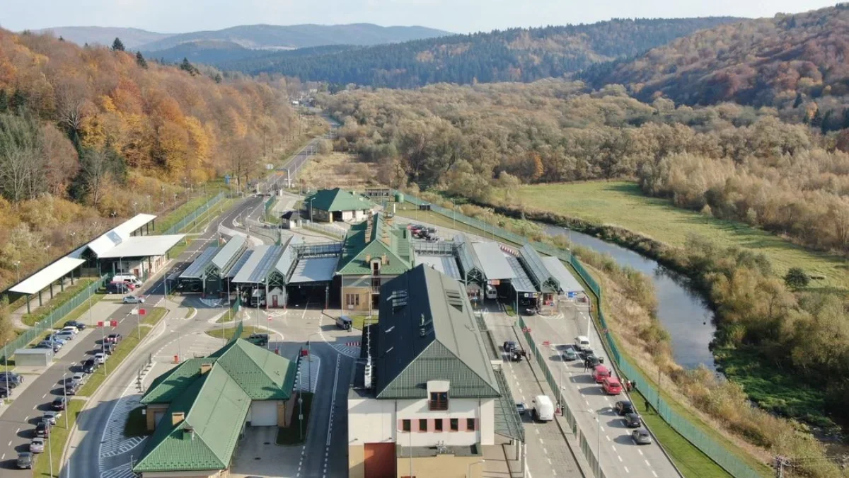
[[[377,259],[384,255],[389,264],[380,267],[381,274],[403,274],[413,268],[413,248],[407,228],[394,224],[382,213],[376,213],[348,230],[337,273],[343,276],[371,274],[367,256]]]

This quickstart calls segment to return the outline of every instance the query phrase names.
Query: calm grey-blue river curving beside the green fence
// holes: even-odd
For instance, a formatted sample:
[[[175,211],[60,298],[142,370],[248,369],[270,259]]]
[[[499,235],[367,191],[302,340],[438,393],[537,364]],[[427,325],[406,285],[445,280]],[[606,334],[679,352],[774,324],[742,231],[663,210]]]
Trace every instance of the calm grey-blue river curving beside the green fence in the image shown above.
[[[556,225],[541,225],[553,236],[569,234]],[[708,349],[717,331],[713,311],[698,293],[687,287],[685,277],[666,269],[653,259],[581,232],[571,231],[571,240],[579,246],[610,254],[617,264],[630,266],[649,276],[655,283],[657,293],[657,317],[672,339],[675,361],[687,368],[704,365],[710,370],[716,370],[713,354]]]

